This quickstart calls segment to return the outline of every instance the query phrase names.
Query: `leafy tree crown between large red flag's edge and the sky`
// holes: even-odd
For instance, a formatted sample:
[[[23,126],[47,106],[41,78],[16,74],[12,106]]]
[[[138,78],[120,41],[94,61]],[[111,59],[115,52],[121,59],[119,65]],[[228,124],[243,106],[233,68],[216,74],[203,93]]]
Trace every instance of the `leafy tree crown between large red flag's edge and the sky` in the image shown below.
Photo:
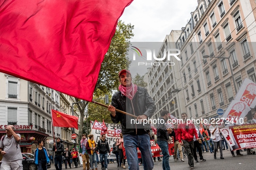
[[[131,61],[126,57],[126,54],[130,45],[130,39],[133,37],[132,30],[133,25],[126,25],[121,21],[118,22],[116,33],[101,64],[100,74],[94,91],[96,96],[107,94],[113,89],[117,89],[119,86],[118,73],[122,69],[129,68]]]

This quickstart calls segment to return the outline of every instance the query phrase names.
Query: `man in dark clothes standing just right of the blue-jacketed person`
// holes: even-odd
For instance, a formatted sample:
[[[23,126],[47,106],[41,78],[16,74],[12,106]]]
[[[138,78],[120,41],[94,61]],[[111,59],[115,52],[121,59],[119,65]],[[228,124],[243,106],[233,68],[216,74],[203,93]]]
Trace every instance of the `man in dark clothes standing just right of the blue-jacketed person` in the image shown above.
[[[56,170],[62,170],[62,152],[64,152],[64,145],[58,137],[56,143],[54,142],[52,151],[55,151],[54,165]]]

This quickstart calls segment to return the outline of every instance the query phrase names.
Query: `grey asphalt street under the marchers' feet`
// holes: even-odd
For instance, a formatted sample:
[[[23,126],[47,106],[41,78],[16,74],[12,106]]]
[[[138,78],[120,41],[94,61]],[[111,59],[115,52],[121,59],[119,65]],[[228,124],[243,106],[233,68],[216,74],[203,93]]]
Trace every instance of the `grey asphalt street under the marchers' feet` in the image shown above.
[[[236,153],[236,152],[235,152]],[[210,152],[204,152],[203,157],[206,159],[205,162],[199,161],[198,163],[194,162],[194,170],[255,170],[256,169],[256,154],[247,155],[246,151],[240,152],[244,154],[242,157],[232,157],[230,151],[223,151],[224,159],[220,159],[220,152],[217,152],[217,159],[214,159],[214,154]],[[157,160],[157,159],[156,159]],[[174,162],[173,157],[169,158],[169,164],[171,170],[189,170],[188,159],[184,158],[185,162]],[[64,167],[64,168],[63,168]],[[70,168],[68,168],[70,169]],[[83,170],[83,167],[75,168],[73,170]],[[123,168],[117,168],[117,163],[108,164],[108,170],[124,170]],[[52,165],[49,170],[55,170],[55,166]],[[65,165],[62,165],[62,170],[65,170]],[[98,166],[98,170],[101,170],[101,165]],[[128,170],[128,164],[126,161],[126,170]],[[139,166],[139,170],[143,170],[143,165]],[[154,162],[154,170],[162,170],[162,161]]]

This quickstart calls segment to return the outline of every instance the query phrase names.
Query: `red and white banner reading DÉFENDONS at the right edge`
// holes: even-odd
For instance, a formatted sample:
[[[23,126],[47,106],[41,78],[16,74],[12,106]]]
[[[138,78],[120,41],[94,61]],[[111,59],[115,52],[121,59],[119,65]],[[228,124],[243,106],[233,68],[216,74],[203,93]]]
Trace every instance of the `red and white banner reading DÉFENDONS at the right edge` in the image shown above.
[[[220,129],[231,150],[256,147],[256,123]]]

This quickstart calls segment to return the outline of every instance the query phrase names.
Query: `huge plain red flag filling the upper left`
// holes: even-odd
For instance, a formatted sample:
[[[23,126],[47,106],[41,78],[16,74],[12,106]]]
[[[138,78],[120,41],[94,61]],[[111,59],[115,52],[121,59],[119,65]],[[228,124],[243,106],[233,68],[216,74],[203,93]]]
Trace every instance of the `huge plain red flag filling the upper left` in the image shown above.
[[[117,21],[133,0],[1,0],[0,72],[91,101]]]

